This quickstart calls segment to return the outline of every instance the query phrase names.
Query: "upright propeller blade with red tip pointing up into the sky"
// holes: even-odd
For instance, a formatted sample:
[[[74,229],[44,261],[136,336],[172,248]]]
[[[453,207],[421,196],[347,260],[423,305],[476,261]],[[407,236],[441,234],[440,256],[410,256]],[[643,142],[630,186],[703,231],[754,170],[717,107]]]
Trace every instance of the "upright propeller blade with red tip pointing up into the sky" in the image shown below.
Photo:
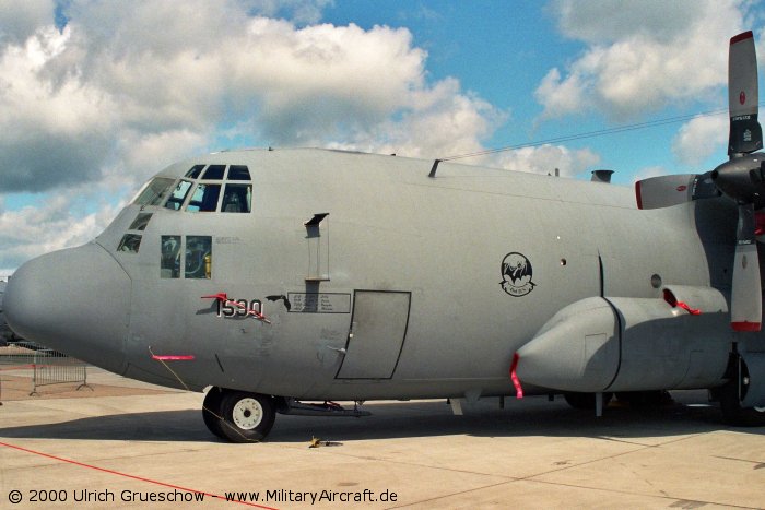
[[[757,121],[757,56],[752,32],[730,39],[728,54],[728,107],[730,139],[728,155],[749,154],[763,147],[763,130]]]

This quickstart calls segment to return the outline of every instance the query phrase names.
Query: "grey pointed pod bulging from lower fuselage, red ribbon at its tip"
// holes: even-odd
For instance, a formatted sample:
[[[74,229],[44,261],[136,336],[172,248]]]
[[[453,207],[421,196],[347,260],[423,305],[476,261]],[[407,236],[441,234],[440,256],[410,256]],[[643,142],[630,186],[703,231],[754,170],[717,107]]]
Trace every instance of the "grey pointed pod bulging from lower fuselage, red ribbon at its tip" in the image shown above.
[[[725,382],[730,343],[720,339],[729,336],[728,303],[710,287],[667,286],[664,299],[590,297],[518,351],[516,375],[558,391],[711,388]]]

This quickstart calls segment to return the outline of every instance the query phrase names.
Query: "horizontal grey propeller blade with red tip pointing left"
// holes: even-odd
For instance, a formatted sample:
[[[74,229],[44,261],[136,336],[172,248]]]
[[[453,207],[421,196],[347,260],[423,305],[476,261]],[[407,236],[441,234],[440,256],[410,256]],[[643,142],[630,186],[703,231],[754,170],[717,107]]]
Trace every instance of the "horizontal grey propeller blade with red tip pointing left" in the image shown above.
[[[691,200],[714,199],[722,194],[711,173],[649,177],[635,182],[637,209],[670,207]]]

